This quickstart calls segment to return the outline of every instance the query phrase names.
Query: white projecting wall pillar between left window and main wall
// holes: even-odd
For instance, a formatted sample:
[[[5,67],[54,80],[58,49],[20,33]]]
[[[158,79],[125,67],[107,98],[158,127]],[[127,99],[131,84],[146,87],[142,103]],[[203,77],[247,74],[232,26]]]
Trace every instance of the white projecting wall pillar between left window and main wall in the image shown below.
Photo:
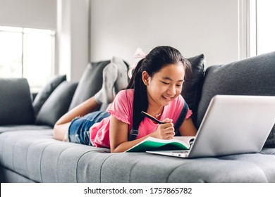
[[[89,62],[89,1],[57,0],[56,72],[78,82]]]

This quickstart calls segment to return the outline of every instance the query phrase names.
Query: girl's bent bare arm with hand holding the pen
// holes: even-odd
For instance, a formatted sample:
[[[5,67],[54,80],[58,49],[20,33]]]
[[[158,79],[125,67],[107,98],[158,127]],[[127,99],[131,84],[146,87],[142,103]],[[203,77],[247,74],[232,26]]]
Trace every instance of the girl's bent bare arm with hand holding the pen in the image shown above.
[[[128,124],[117,120],[116,117],[111,115],[110,117],[110,148],[111,153],[120,153],[132,148],[140,141],[146,139],[148,136],[160,138],[160,139],[171,139],[175,134],[173,129],[173,123],[171,120],[166,119],[165,124],[158,126],[155,132],[143,136],[140,139],[135,139],[133,141],[128,141]]]

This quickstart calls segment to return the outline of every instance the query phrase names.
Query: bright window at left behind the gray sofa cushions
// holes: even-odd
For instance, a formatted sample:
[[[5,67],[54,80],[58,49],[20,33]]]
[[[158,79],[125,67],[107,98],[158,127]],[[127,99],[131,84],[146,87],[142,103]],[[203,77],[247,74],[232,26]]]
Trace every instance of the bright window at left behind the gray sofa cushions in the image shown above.
[[[0,77],[25,77],[37,92],[54,70],[54,32],[0,26]]]

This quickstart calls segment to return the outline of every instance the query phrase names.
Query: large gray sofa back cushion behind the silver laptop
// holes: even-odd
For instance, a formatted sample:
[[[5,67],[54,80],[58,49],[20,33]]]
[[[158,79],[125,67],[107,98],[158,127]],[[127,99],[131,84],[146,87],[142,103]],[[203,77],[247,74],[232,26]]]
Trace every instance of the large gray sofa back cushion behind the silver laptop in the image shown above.
[[[275,96],[275,52],[207,68],[197,110],[199,127],[209,102],[216,94]],[[264,116],[264,115],[262,115]],[[275,146],[271,130],[265,146]]]

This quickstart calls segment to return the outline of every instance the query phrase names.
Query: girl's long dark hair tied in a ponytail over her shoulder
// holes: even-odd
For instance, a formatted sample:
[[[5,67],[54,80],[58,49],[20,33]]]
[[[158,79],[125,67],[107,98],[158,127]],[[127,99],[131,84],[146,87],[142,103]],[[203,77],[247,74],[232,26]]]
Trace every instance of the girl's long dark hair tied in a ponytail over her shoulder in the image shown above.
[[[166,65],[179,62],[183,63],[185,75],[188,75],[191,71],[190,63],[181,55],[180,51],[171,46],[157,46],[138,63],[133,72],[133,77],[128,87],[126,87],[126,89],[134,89],[133,129],[138,130],[140,122],[144,119],[144,116],[141,115],[141,111],[143,110],[146,112],[148,108],[147,88],[142,82],[142,72],[147,71],[148,75],[152,77]]]

